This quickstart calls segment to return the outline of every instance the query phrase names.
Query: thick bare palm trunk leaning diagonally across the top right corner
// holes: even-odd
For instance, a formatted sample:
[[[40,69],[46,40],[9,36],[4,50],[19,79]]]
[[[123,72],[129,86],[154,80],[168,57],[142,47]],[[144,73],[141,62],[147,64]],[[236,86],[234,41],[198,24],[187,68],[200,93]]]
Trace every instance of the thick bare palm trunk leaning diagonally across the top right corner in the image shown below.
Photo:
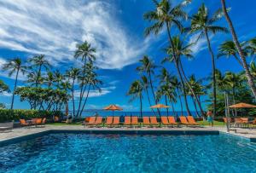
[[[252,89],[254,97],[256,97],[256,89],[255,89],[255,86],[253,84],[253,76],[252,76],[251,72],[249,71],[249,67],[247,65],[246,57],[242,52],[241,45],[240,45],[240,43],[238,41],[238,38],[236,36],[235,28],[232,24],[232,21],[230,20],[229,14],[227,12],[225,1],[221,0],[221,4],[222,4],[222,9],[223,9],[223,12],[224,12],[224,16],[225,16],[225,18],[228,21],[228,24],[230,26],[230,32],[231,32],[231,35],[233,37],[233,41],[236,45],[236,49],[238,50],[238,54],[240,55],[241,62],[242,62],[242,67],[246,72],[247,83],[248,83],[249,87]]]

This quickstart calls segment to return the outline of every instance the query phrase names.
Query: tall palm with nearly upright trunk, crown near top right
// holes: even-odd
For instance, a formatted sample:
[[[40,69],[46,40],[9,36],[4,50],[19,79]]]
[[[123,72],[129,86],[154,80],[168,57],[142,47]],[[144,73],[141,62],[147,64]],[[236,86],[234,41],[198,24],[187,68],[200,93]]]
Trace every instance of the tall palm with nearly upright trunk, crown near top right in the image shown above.
[[[212,57],[212,90],[213,90],[213,117],[216,115],[216,78],[215,78],[215,58],[212,51],[212,45],[209,38],[209,33],[216,34],[217,32],[228,32],[225,27],[215,26],[218,20],[220,20],[221,11],[218,10],[212,16],[209,15],[208,9],[203,3],[198,9],[197,14],[191,17],[191,28],[190,33],[198,33],[199,38],[207,38],[207,47],[209,49],[210,55]]]

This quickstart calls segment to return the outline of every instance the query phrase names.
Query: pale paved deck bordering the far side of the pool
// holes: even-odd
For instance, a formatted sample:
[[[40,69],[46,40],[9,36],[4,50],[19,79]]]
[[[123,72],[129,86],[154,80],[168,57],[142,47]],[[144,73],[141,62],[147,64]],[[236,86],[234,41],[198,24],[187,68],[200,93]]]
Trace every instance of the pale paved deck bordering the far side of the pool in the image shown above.
[[[182,128],[84,128],[82,125],[46,125],[45,127],[40,128],[17,128],[12,130],[11,132],[0,133],[0,142],[9,141],[12,139],[32,136],[40,133],[47,132],[49,130],[68,130],[68,131],[161,131],[161,132],[168,132],[168,131],[219,131],[223,133],[227,133],[224,127],[203,127],[203,128],[189,128],[189,127],[182,127]],[[250,141],[256,142],[256,130],[247,130],[247,129],[237,129],[236,133],[234,131],[230,131],[230,134],[235,136],[241,136],[249,139]]]

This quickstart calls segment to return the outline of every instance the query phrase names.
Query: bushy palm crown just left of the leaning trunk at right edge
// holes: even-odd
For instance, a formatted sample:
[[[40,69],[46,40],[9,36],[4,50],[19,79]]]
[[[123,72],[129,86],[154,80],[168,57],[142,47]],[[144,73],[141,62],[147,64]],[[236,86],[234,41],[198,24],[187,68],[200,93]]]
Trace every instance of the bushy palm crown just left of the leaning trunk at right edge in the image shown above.
[[[218,48],[218,52],[219,53],[217,57],[226,56],[229,58],[232,55],[235,57],[236,61],[238,61],[238,63],[242,66],[241,60],[237,55],[238,52],[236,49],[236,45],[233,41],[225,41],[224,43],[222,43]]]

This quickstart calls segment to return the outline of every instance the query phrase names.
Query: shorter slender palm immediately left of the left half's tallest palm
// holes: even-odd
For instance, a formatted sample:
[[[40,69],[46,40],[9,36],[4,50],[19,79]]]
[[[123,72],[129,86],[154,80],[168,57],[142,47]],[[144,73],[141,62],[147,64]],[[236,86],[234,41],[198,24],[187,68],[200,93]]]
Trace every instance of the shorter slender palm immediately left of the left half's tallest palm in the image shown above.
[[[79,78],[80,70],[79,68],[71,68],[66,72],[67,78],[72,80],[71,92],[72,92],[72,103],[73,103],[73,116],[75,115],[75,104],[74,104],[74,83],[75,80]]]

